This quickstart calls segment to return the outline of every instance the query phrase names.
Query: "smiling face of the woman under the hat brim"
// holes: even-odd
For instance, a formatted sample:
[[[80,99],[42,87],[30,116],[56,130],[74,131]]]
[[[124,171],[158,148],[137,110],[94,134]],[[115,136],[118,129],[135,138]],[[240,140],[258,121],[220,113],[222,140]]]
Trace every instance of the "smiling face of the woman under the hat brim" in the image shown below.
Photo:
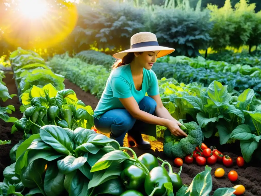
[[[153,66],[153,63],[157,61],[157,54],[159,51],[149,51],[143,52],[142,54],[135,53],[136,61],[141,67],[144,67],[146,70],[150,70]]]

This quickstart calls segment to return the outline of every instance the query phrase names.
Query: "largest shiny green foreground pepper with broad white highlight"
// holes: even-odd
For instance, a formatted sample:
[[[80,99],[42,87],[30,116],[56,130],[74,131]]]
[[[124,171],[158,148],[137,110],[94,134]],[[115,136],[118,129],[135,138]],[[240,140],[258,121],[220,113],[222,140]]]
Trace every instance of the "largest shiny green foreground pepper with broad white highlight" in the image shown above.
[[[162,196],[166,192],[164,184],[171,182],[171,178],[167,170],[161,166],[153,168],[145,178],[145,192],[150,195],[154,192],[153,196]],[[158,188],[156,191],[154,189]]]

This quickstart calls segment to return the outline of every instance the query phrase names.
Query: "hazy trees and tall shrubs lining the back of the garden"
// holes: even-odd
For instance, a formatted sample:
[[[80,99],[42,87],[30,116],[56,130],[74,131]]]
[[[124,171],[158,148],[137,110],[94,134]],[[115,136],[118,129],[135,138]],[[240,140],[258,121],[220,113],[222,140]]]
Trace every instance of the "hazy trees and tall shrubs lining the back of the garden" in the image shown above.
[[[254,0],[85,0],[77,5],[79,19],[73,32],[40,54],[45,58],[89,49],[113,54],[129,48],[130,37],[141,31],[155,33],[162,45],[176,49],[171,54],[175,56],[195,57],[199,50],[220,52],[243,45],[249,45],[251,52],[261,44],[260,4]],[[0,31],[1,54],[14,49],[1,39]]]

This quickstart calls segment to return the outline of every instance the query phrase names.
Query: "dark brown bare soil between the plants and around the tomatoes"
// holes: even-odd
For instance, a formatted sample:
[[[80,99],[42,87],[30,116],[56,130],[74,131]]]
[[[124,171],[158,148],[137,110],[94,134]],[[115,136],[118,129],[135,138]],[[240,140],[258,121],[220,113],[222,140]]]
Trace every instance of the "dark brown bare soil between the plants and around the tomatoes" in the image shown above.
[[[12,74],[5,74],[6,78],[4,78],[4,82],[7,85],[7,88],[9,90],[10,94],[17,94],[17,89],[15,86],[14,79],[12,78]],[[97,106],[98,99],[91,95],[90,93],[86,93],[82,91],[78,86],[70,83],[70,81],[65,80],[64,84],[66,86],[66,89],[70,88],[73,89],[77,95],[77,98],[82,100],[86,105],[90,105],[93,109]],[[1,106],[7,106],[7,105],[14,105],[16,111],[11,115],[16,118],[21,118],[22,114],[19,111],[20,102],[18,100],[18,97],[13,97],[11,100],[7,100],[6,102],[0,102]],[[10,158],[9,158],[9,152],[10,149],[19,142],[20,139],[22,139],[22,133],[16,132],[15,134],[11,134],[11,127],[12,123],[5,123],[3,120],[0,120],[0,138],[1,140],[11,140],[10,145],[3,145],[0,147],[0,182],[3,180],[2,172],[3,169],[10,165]],[[143,135],[145,140],[148,140],[148,137]],[[234,165],[230,168],[226,168],[221,163],[216,163],[214,165],[209,165],[212,175],[212,192],[215,191],[217,188],[222,187],[233,187],[238,184],[242,184],[245,186],[246,191],[243,194],[244,196],[252,196],[252,195],[261,195],[261,167],[260,163],[256,164],[245,164],[244,167],[240,168],[236,165],[235,160],[238,156],[240,156],[240,146],[239,144],[234,145],[219,145],[218,138],[217,139],[211,139],[211,140],[205,140],[204,143],[208,146],[215,145],[220,151],[222,151],[224,154],[229,155],[234,160]],[[125,137],[124,139],[124,146],[127,146],[127,139]],[[178,172],[179,168],[176,167],[173,163],[173,159],[169,159],[166,157],[163,153],[163,145],[162,145],[162,139],[159,139],[158,141],[151,142],[151,149],[149,150],[140,150],[136,147],[132,147],[132,149],[135,151],[137,156],[140,156],[144,153],[151,153],[155,155],[155,157],[160,157],[163,160],[167,160],[171,165],[174,172]],[[228,152],[230,151],[230,152]],[[131,156],[131,152],[128,152]],[[159,164],[160,165],[160,164]],[[225,175],[222,178],[216,178],[214,175],[214,172],[217,168],[222,167],[225,170]],[[189,164],[183,163],[182,165],[182,172],[181,172],[181,178],[183,183],[190,184],[198,173],[205,170],[205,166],[198,166],[197,164]],[[227,174],[230,170],[235,170],[238,172],[238,180],[235,182],[230,182],[228,180]]]

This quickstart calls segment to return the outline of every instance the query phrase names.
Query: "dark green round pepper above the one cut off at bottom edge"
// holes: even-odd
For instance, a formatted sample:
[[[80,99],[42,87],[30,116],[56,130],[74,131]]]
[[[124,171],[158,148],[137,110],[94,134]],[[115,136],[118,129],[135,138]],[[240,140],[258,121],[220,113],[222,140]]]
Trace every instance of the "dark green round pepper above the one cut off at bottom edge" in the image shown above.
[[[131,165],[121,172],[121,180],[126,189],[139,189],[144,186],[146,173],[142,168]]]

